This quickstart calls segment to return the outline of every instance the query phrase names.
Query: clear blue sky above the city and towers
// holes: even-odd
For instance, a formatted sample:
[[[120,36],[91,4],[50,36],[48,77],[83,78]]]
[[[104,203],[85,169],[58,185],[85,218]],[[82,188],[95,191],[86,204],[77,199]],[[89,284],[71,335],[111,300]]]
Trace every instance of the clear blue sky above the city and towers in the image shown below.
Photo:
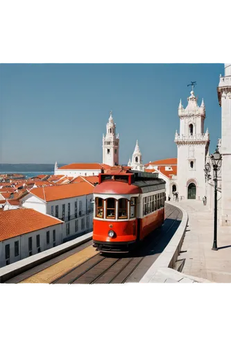
[[[127,164],[139,140],[144,163],[176,158],[178,105],[196,81],[210,152],[221,137],[216,87],[222,63],[2,63],[0,162],[102,162],[110,111]]]

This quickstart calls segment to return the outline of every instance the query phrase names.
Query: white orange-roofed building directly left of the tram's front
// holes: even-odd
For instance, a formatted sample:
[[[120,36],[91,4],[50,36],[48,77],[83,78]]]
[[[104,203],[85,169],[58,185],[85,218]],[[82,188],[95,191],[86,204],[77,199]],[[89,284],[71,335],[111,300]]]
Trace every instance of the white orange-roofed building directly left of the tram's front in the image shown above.
[[[66,242],[92,230],[93,190],[94,184],[89,182],[39,187],[31,189],[20,203],[23,208],[33,208],[65,221],[63,241]]]

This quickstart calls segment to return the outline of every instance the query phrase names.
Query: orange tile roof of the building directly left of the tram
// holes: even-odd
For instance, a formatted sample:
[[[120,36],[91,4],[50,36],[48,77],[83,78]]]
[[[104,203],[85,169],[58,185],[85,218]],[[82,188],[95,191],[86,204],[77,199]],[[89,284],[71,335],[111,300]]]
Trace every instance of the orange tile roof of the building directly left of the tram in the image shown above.
[[[63,198],[74,198],[92,194],[94,187],[87,182],[76,183],[75,185],[55,185],[53,187],[40,187],[31,189],[30,193],[44,201],[56,201]]]

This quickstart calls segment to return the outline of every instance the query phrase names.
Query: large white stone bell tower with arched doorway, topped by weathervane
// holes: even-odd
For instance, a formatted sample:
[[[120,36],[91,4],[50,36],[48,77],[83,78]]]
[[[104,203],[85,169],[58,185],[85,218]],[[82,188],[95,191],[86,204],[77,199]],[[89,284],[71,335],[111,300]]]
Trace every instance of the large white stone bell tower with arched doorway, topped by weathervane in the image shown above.
[[[193,88],[192,88],[193,89]],[[175,142],[178,146],[178,193],[179,198],[202,200],[205,196],[205,159],[209,151],[209,131],[204,133],[205,103],[200,107],[191,91],[187,108],[180,100],[180,134],[176,130]]]

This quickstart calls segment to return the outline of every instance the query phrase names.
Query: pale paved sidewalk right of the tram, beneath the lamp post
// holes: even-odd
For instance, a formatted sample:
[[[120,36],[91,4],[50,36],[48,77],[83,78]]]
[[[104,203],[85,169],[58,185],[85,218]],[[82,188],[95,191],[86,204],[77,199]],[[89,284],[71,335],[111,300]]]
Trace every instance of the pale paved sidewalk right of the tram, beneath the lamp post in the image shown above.
[[[189,215],[189,231],[185,233],[182,253],[178,256],[178,260],[185,259],[182,273],[205,278],[212,283],[231,283],[231,227],[219,226],[218,223],[219,251],[212,251],[214,215],[203,205],[203,201],[171,203],[180,205]]]

